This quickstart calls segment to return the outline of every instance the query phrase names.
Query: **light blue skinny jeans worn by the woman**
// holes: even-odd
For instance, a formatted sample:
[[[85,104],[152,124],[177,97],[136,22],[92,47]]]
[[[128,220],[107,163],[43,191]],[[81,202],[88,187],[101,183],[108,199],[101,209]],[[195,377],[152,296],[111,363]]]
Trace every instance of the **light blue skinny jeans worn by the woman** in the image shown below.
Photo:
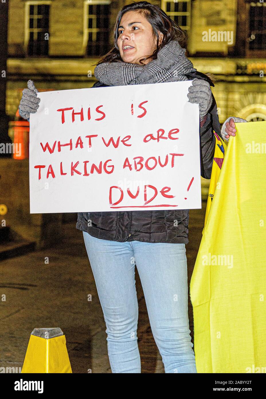
[[[117,242],[83,232],[113,373],[140,373],[135,266],[166,373],[197,373],[188,322],[185,244]]]

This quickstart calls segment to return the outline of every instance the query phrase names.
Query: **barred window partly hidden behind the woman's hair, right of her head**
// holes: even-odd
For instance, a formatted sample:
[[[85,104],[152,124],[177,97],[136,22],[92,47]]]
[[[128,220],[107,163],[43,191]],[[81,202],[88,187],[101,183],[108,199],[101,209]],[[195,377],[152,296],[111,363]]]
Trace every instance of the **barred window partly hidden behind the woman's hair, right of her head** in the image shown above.
[[[161,8],[180,26],[180,28],[183,30],[190,29],[191,0],[162,0]]]

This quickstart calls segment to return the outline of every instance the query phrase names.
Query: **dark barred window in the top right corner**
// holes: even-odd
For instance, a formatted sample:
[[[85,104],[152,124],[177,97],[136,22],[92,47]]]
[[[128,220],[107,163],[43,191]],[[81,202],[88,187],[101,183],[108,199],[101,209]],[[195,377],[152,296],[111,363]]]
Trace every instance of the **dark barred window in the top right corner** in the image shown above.
[[[266,2],[251,2],[249,8],[250,50],[266,50]]]

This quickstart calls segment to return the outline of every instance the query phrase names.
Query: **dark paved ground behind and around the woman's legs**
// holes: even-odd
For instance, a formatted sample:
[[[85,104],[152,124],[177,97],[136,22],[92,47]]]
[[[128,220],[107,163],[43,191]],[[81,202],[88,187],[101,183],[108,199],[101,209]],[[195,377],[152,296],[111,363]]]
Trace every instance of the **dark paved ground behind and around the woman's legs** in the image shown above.
[[[188,280],[192,275],[206,202],[190,210],[189,244],[186,245]],[[49,257],[49,264],[45,263]],[[139,350],[143,373],[164,373],[153,339],[147,309],[136,271],[139,299]],[[107,354],[106,326],[96,285],[88,263],[82,232],[75,223],[64,225],[61,249],[31,252],[0,264],[0,367],[22,367],[33,328],[60,327],[73,373],[111,373]],[[92,294],[92,302],[88,302]],[[189,300],[193,340],[193,313]]]

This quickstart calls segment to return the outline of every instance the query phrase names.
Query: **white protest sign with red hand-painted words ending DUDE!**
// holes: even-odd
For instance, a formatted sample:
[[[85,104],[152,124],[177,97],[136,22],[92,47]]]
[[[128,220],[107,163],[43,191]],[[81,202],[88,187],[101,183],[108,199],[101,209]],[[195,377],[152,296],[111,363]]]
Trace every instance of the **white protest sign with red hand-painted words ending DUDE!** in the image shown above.
[[[38,93],[31,213],[201,208],[190,81]]]

